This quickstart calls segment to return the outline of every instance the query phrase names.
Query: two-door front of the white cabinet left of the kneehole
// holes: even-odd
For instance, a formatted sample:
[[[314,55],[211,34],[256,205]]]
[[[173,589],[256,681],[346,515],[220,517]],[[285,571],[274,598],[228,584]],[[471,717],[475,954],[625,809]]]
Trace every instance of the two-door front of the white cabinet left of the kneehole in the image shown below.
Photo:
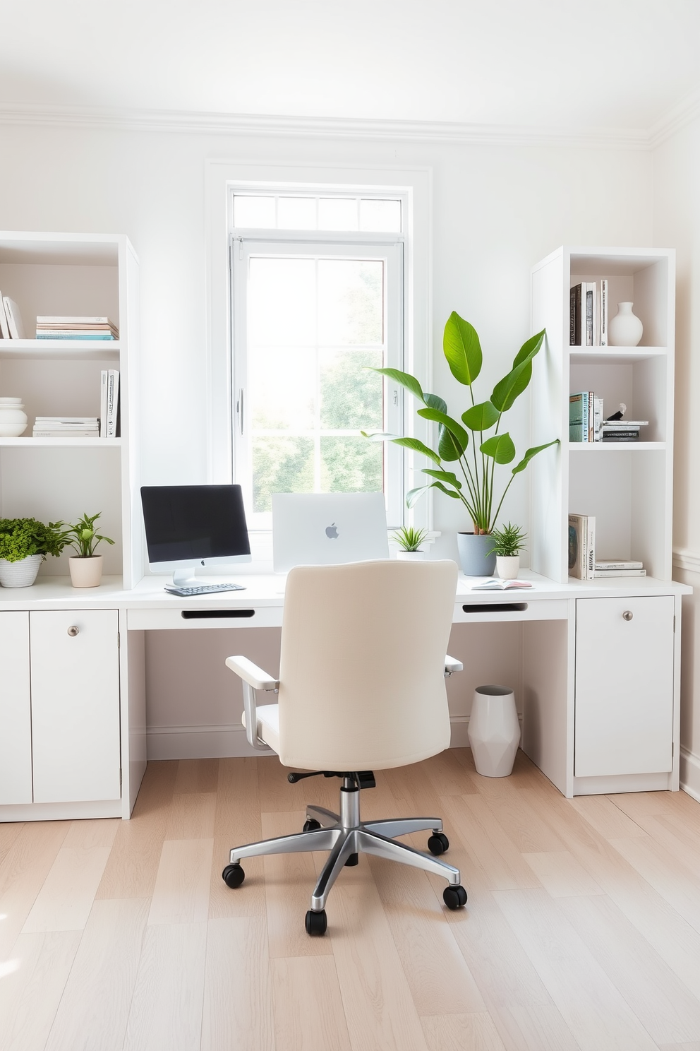
[[[118,612],[0,613],[0,804],[119,800]]]

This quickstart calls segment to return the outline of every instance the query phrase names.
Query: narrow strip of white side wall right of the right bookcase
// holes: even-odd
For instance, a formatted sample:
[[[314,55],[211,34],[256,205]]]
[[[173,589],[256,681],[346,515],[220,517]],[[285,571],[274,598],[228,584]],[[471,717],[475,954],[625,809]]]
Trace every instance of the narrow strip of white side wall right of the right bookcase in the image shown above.
[[[681,780],[700,798],[700,119],[655,151],[654,243],[677,249],[674,576],[692,584],[683,599]]]

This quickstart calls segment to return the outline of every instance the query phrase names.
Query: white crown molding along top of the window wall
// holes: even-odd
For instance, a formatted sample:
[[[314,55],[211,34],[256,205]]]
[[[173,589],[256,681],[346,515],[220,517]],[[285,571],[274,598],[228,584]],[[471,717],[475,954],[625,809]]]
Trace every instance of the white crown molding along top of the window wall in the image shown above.
[[[355,118],[284,117],[256,114],[212,114],[166,109],[103,109],[81,106],[0,104],[0,124],[125,131],[199,135],[289,136],[311,139],[451,143],[457,145],[553,145],[587,149],[650,148],[645,131],[630,128],[535,127],[463,124],[446,121],[364,120]]]

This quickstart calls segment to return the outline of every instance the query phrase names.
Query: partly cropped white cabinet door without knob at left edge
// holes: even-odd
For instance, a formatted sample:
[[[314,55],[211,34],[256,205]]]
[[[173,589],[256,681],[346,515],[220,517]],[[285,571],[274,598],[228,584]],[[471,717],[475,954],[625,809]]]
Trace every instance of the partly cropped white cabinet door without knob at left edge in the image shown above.
[[[0,803],[31,802],[29,614],[0,613]]]

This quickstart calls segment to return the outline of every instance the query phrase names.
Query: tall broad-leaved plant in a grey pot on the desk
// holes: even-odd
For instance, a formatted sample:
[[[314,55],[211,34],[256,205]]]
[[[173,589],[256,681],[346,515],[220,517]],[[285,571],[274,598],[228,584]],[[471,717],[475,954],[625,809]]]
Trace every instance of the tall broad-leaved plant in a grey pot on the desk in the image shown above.
[[[472,385],[482,370],[481,343],[474,327],[452,311],[445,325],[443,352],[454,378],[469,388],[471,400],[460,420],[447,414],[447,404],[443,398],[437,394],[423,393],[420,383],[410,373],[398,369],[375,370],[401,384],[418,398],[422,405],[418,410],[419,416],[438,424],[437,447],[430,449],[418,438],[384,433],[367,434],[365,431],[361,433],[373,440],[394,441],[423,453],[432,461],[434,466],[422,469],[431,480],[425,486],[411,489],[406,495],[406,503],[412,507],[428,489],[439,489],[451,499],[462,501],[473,528],[471,533],[458,534],[462,568],[469,576],[490,576],[493,573],[495,555],[487,557],[493,547],[491,533],[515,475],[524,471],[537,453],[558,445],[559,439],[554,438],[543,446],[528,449],[515,467],[511,468],[510,478],[505,487],[502,490],[496,487],[496,466],[511,463],[516,455],[510,434],[501,431],[503,416],[527,389],[532,376],[532,359],[542,347],[544,337],[543,329],[524,343],[510,371],[499,380],[487,400],[478,401]],[[457,470],[450,470],[452,466],[459,470],[461,477]]]

